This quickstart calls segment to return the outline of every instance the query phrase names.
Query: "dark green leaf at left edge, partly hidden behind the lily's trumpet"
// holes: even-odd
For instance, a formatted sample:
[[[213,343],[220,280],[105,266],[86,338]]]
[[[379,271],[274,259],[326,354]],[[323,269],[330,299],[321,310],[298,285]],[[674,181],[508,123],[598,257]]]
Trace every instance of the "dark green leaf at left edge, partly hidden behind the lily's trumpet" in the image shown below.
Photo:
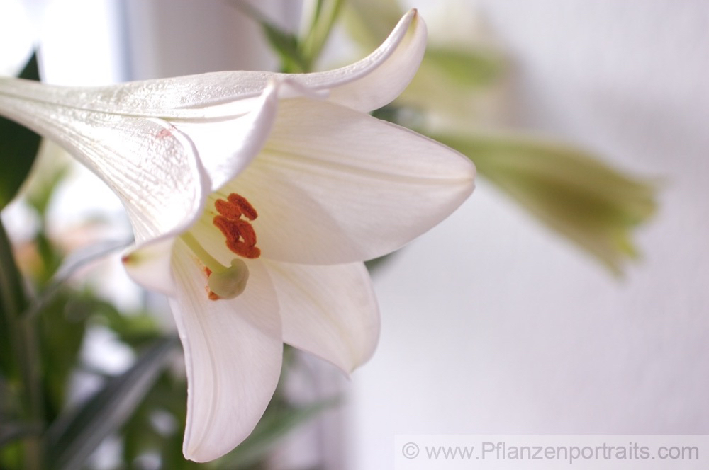
[[[39,80],[37,57],[33,55],[20,77]],[[0,209],[15,197],[27,178],[40,147],[40,136],[26,127],[0,117]]]

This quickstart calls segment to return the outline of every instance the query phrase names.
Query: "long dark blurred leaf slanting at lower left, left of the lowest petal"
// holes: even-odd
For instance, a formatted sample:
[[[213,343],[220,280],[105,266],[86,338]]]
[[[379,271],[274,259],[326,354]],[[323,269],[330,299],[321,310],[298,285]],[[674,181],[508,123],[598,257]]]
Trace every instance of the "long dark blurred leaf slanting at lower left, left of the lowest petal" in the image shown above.
[[[167,365],[177,338],[162,338],[133,367],[108,382],[86,403],[57,420],[47,435],[49,469],[78,469],[105,437],[125,423]]]

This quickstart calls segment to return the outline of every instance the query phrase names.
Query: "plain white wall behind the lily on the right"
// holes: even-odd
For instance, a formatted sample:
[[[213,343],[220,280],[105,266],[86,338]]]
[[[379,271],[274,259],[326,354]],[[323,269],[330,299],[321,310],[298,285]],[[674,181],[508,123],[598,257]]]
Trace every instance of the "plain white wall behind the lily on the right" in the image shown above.
[[[397,433],[709,433],[709,4],[476,4],[518,126],[660,176],[659,214],[617,282],[481,180],[376,277],[351,468],[390,467]]]

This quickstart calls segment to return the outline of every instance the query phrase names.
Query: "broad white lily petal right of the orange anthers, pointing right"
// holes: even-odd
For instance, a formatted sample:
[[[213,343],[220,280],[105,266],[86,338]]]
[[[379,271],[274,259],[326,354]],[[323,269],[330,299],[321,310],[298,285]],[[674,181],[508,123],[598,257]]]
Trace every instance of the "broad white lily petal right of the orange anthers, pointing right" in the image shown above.
[[[281,103],[264,150],[223,190],[259,212],[253,227],[264,258],[341,264],[428,231],[468,197],[474,176],[469,159],[442,144],[299,98]]]

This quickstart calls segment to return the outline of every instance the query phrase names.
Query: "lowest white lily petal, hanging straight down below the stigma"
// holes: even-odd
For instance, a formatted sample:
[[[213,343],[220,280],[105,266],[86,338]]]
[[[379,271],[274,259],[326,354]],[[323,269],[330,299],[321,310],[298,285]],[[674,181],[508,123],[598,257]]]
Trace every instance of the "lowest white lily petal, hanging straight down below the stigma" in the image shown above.
[[[279,379],[283,343],[276,293],[259,262],[245,292],[209,300],[206,274],[182,241],[173,257],[180,289],[170,306],[184,347],[188,380],[183,452],[216,459],[250,434]]]

